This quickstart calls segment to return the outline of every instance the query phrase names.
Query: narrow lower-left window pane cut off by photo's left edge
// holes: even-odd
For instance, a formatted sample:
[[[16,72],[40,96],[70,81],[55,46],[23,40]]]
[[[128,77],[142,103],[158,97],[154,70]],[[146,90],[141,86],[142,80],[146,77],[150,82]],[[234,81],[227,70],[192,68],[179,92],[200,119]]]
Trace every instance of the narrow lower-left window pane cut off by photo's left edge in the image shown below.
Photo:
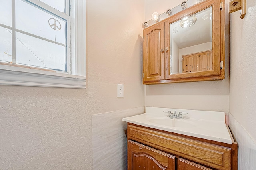
[[[0,27],[0,60],[12,62],[12,30]]]

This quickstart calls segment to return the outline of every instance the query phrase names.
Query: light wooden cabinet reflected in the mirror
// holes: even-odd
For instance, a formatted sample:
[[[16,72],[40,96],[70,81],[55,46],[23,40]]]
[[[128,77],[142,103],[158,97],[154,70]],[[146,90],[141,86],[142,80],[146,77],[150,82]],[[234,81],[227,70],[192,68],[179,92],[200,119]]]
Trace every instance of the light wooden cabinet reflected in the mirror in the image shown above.
[[[182,55],[183,73],[212,70],[212,50]]]

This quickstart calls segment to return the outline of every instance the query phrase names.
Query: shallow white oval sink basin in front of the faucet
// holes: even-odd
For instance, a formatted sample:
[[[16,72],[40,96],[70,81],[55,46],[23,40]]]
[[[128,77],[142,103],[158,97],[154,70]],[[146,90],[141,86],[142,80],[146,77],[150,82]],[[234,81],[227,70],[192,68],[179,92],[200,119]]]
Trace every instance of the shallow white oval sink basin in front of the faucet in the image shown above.
[[[184,128],[190,128],[195,127],[196,123],[193,123],[191,121],[188,121],[186,119],[170,119],[170,118],[152,118],[148,120],[151,123],[155,123],[162,126],[168,126],[168,127],[184,127]]]

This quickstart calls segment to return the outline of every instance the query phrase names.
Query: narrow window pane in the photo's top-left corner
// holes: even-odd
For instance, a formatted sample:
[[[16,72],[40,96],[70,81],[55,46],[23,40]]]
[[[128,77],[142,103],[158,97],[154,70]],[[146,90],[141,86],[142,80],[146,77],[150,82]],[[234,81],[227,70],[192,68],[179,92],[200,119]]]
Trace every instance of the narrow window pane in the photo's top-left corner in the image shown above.
[[[0,23],[12,26],[12,1],[0,0]]]

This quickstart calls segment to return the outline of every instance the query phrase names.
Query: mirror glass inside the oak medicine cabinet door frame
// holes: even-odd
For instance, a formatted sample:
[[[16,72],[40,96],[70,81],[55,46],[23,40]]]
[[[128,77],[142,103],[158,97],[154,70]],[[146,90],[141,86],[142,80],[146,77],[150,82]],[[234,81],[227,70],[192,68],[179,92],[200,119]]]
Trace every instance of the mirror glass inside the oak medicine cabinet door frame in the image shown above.
[[[170,24],[170,74],[212,69],[212,7]]]

